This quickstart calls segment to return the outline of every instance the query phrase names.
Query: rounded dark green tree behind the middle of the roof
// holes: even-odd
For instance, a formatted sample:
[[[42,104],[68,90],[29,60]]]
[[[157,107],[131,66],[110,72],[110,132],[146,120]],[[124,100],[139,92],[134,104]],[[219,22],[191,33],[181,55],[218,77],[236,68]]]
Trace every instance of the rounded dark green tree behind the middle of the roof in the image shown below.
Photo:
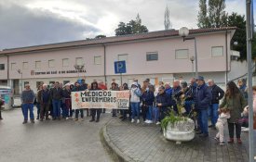
[[[115,29],[115,35],[126,35],[132,33],[148,32],[146,26],[141,25],[141,18],[138,14],[136,20],[131,19],[128,23],[120,22]]]

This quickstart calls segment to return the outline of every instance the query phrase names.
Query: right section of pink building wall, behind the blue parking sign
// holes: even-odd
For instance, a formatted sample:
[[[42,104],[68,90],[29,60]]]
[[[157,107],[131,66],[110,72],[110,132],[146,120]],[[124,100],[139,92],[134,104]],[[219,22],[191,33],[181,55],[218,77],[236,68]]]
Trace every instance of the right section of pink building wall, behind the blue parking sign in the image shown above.
[[[198,71],[225,71],[225,35],[224,33],[196,36]],[[223,46],[223,56],[211,56],[212,46]],[[128,54],[127,73],[183,73],[191,71],[190,56],[195,56],[194,40],[182,41],[182,38],[169,38],[128,44],[107,45],[107,75],[115,75],[114,62],[118,55]],[[187,59],[175,59],[175,50],[188,49]],[[146,61],[147,52],[157,52],[158,61]]]

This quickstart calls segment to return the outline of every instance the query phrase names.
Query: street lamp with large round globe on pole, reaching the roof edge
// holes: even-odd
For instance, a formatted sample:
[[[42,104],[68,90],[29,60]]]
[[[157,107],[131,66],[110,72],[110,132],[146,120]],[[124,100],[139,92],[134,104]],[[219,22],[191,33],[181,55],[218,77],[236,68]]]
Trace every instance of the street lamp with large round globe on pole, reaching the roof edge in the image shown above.
[[[198,77],[196,39],[195,39],[195,37],[187,37],[188,34],[189,34],[189,30],[186,27],[182,27],[179,30],[179,35],[183,37],[183,42],[185,42],[186,40],[194,40],[194,42],[195,42],[195,77]]]

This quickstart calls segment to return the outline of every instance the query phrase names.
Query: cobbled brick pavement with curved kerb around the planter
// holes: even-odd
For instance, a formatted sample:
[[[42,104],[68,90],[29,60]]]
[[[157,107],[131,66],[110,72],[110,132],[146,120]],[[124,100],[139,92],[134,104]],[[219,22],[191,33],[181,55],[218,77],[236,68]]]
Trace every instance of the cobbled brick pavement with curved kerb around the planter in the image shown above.
[[[226,133],[227,134],[227,133]],[[256,132],[255,138],[256,139]],[[109,143],[128,161],[154,162],[247,162],[248,133],[242,133],[243,144],[219,145],[213,137],[215,131],[209,131],[209,138],[195,139],[188,143],[176,144],[164,139],[159,127],[144,123],[135,124],[122,122],[119,118],[112,119],[105,129]],[[256,147],[256,142],[255,142]]]

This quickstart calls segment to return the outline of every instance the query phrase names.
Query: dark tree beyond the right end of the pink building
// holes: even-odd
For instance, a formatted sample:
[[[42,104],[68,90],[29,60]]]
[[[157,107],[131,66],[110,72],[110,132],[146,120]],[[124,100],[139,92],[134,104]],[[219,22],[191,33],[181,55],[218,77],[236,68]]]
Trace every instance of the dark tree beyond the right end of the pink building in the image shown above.
[[[246,20],[244,15],[238,15],[233,12],[227,19],[227,26],[237,27],[236,32],[231,39],[231,48],[240,52],[240,59],[247,59],[247,42],[246,42]],[[234,44],[234,43],[237,44]]]

